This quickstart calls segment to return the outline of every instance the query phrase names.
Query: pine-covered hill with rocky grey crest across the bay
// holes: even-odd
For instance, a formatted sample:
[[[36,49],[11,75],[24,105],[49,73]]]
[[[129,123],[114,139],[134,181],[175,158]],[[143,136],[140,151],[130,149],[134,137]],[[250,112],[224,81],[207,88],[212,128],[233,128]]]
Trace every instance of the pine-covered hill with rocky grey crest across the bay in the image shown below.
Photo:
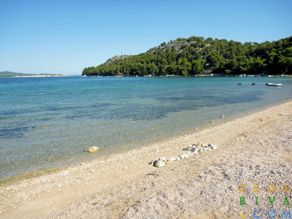
[[[161,43],[146,53],[115,56],[86,76],[292,74],[292,36],[263,43],[191,36]]]

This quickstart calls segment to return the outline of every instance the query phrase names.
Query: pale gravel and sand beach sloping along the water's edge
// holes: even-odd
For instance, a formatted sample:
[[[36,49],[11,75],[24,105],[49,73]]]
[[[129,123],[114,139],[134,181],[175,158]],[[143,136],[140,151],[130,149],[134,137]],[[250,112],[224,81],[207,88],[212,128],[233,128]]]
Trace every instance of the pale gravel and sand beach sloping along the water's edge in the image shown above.
[[[199,141],[218,148],[159,168],[149,164],[182,155]],[[0,218],[254,218],[256,209],[262,218],[270,209],[280,218],[283,210],[292,211],[291,166],[290,100],[190,135],[1,185]],[[285,185],[290,192],[283,192]],[[275,197],[273,204],[268,197]],[[290,205],[283,205],[285,197]]]

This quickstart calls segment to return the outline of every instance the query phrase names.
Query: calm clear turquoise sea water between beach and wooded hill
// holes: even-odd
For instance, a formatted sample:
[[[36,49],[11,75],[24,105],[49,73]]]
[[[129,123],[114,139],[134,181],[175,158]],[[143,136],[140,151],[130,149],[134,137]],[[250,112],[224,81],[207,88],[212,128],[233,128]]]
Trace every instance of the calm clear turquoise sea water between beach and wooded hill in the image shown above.
[[[288,77],[0,78],[0,179],[191,133],[291,94]],[[87,153],[93,145],[101,150]]]

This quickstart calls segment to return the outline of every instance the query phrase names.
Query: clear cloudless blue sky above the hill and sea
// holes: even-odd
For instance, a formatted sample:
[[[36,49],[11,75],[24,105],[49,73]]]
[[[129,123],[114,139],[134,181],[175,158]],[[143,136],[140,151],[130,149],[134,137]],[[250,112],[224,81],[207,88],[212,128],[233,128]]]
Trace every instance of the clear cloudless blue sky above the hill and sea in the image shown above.
[[[0,71],[81,74],[178,37],[273,41],[292,35],[292,0],[0,0]]]

